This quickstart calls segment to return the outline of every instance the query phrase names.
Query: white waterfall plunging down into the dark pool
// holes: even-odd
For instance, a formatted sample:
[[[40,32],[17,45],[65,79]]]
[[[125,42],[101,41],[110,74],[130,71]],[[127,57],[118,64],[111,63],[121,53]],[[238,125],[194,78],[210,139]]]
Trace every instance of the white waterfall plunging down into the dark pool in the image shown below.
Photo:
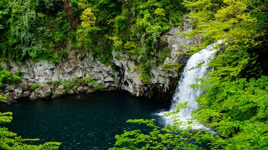
[[[207,46],[201,51],[193,54],[187,61],[185,69],[179,79],[178,86],[172,99],[172,105],[170,111],[174,110],[174,107],[180,103],[188,101],[187,107],[180,111],[181,120],[190,118],[190,114],[193,110],[197,109],[198,103],[195,99],[202,94],[202,91],[192,89],[191,84],[197,83],[196,78],[205,77],[206,71],[208,70],[209,58],[212,57],[212,53],[215,52],[213,49],[214,44]],[[198,64],[204,62],[201,66],[197,67]]]

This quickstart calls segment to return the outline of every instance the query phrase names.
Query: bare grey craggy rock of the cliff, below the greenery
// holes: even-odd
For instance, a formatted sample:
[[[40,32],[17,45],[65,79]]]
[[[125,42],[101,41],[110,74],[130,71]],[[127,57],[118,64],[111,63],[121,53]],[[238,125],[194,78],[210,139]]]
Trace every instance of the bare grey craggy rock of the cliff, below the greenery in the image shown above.
[[[172,27],[172,29],[162,36],[162,40],[167,42],[171,52],[171,58],[167,57],[167,63],[185,63],[186,54],[178,54],[187,49],[185,45],[199,44],[200,38],[188,39],[184,35],[176,35],[177,32],[188,32],[193,26],[188,25],[190,19],[183,17],[183,25]],[[72,46],[67,45],[72,51]],[[144,85],[136,70],[136,62],[130,59],[126,53],[112,53],[113,62],[116,65],[104,65],[97,58],[88,52],[71,52],[68,58],[61,62],[47,60],[26,60],[25,62],[11,61],[5,64],[5,68],[12,73],[21,71],[23,82],[41,83],[72,78],[84,78],[89,76],[99,83],[104,83],[106,89],[123,89],[132,95],[146,96],[150,98],[171,99],[171,92],[174,90],[178,79],[178,72],[174,69],[167,70],[162,65],[155,66],[151,70],[151,84]]]

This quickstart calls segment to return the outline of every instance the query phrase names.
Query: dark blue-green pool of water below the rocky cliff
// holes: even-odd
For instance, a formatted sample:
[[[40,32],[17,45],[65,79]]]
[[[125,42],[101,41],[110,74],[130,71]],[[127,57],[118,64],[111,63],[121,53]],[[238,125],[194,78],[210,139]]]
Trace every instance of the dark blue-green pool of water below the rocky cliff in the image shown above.
[[[27,101],[6,105],[0,111],[12,111],[13,121],[6,126],[23,138],[41,142],[59,141],[61,149],[108,149],[116,134],[137,129],[130,118],[156,118],[169,104],[133,97],[126,92],[97,92],[80,99],[63,97],[48,101]]]

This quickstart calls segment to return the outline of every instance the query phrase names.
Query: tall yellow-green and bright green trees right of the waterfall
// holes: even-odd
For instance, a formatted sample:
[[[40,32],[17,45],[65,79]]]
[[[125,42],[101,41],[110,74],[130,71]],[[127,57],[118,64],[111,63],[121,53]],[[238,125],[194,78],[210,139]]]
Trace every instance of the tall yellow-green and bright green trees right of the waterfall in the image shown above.
[[[185,0],[196,29],[206,36],[200,48],[223,39],[210,61],[209,76],[195,88],[204,94],[194,118],[221,136],[215,149],[267,147],[267,2],[261,0]],[[265,18],[264,18],[265,16]],[[198,48],[190,49],[190,53]],[[254,77],[254,78],[252,78]],[[255,79],[257,78],[257,79]],[[212,141],[211,141],[212,143]]]

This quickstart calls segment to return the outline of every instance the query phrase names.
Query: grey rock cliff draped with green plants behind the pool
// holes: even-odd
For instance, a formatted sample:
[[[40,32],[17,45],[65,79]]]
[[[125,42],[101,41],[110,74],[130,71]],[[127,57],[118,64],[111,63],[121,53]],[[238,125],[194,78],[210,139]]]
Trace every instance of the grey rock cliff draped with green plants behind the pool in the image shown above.
[[[201,40],[176,34],[193,28],[180,0],[4,0],[0,9],[3,65],[30,83],[89,76],[171,97],[182,52]]]

